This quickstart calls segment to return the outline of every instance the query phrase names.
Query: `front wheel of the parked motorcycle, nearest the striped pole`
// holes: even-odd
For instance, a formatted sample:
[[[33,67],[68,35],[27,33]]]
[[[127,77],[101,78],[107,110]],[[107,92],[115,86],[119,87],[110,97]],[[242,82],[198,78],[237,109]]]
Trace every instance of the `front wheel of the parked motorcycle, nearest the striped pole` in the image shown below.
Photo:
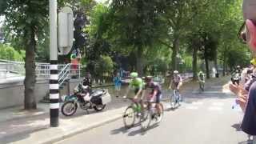
[[[65,116],[72,116],[78,109],[75,102],[65,102],[62,105],[62,114]]]

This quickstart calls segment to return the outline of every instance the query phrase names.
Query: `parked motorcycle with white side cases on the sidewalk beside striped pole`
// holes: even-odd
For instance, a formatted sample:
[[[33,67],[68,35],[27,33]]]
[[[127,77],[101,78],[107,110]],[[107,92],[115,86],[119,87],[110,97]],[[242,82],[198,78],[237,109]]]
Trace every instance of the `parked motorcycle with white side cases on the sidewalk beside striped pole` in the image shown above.
[[[85,101],[82,95],[87,93],[90,94],[89,101]],[[63,101],[62,114],[72,116],[77,111],[78,107],[82,110],[86,110],[87,114],[89,114],[89,109],[102,111],[106,107],[106,104],[111,102],[111,97],[107,90],[90,91],[89,86],[86,86],[85,89],[80,83],[74,88],[74,94],[66,96],[63,98]]]

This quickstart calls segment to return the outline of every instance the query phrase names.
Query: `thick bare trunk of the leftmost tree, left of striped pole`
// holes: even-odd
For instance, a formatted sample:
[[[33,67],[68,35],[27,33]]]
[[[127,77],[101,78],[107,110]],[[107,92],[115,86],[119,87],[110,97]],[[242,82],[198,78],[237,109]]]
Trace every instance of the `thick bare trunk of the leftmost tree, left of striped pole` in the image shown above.
[[[34,94],[34,85],[36,82],[35,74],[35,31],[34,26],[30,27],[30,32],[26,31],[26,58],[25,58],[25,69],[26,78],[24,80],[25,86],[25,98],[24,108],[25,110],[33,110],[37,108],[37,102]]]

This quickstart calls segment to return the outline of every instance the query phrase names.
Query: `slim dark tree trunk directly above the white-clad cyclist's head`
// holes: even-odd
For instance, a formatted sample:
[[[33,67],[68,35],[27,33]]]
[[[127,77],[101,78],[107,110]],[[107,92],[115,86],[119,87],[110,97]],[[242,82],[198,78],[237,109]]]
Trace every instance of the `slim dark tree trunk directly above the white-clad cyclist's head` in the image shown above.
[[[172,70],[178,70],[178,62],[177,62],[177,54],[178,54],[178,46],[179,46],[179,41],[178,41],[178,37],[174,38],[174,42],[173,42],[173,53],[171,55],[171,68]]]

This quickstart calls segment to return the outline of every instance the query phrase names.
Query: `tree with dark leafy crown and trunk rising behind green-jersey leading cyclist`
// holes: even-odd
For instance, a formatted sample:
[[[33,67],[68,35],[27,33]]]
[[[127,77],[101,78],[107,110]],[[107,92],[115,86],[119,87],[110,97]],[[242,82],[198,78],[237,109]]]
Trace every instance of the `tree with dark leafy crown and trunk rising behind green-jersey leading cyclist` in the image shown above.
[[[143,73],[143,51],[152,47],[159,38],[161,6],[161,1],[148,0],[114,0],[110,4],[107,36],[119,48],[133,48],[140,76]]]

